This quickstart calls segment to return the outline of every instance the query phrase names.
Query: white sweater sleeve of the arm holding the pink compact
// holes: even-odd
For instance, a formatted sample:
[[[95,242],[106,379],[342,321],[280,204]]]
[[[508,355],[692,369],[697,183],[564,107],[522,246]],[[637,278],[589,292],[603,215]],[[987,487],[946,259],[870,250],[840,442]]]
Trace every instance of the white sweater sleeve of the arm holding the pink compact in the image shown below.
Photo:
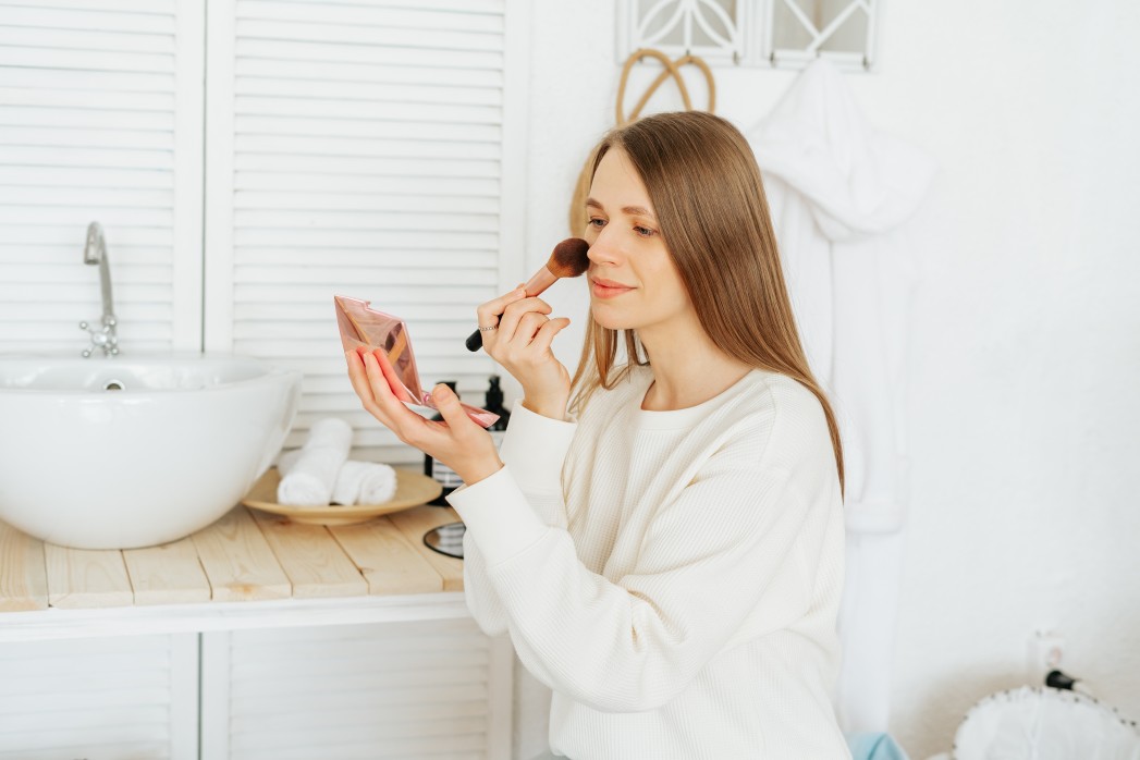
[[[712,457],[661,506],[635,566],[614,581],[579,562],[512,474],[508,465],[453,504],[523,664],[594,709],[660,706],[731,640],[788,627],[811,605],[804,551],[825,521],[787,473]]]

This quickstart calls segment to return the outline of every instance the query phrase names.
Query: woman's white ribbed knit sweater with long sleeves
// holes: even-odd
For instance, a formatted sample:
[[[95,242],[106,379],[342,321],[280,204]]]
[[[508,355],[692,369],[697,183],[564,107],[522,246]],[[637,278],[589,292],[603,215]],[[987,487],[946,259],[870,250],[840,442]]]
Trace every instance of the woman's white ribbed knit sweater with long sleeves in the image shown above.
[[[553,692],[573,760],[849,758],[831,708],[844,523],[822,408],[754,370],[644,411],[652,373],[581,419],[516,406],[506,466],[455,491],[467,604]]]

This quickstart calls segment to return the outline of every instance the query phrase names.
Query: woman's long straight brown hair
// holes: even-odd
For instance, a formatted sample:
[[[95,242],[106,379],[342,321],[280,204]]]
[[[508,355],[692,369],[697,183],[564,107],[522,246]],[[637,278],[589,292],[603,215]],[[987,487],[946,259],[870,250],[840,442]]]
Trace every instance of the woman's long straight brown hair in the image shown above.
[[[697,316],[712,343],[750,367],[779,373],[820,400],[844,484],[836,415],[812,375],[796,329],[780,265],[760,170],[735,126],[705,112],[656,114],[611,131],[594,149],[594,172],[611,148],[637,170],[661,236]],[[628,365],[614,369],[624,342]],[[598,387],[611,389],[632,365],[649,358],[634,330],[589,320],[575,373],[573,407]]]

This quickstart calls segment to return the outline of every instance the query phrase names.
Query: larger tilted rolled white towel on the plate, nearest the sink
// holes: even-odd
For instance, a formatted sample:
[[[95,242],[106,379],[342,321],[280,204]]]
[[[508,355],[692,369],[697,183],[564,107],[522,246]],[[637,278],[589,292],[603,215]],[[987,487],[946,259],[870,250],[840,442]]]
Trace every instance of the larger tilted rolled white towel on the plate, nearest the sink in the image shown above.
[[[288,466],[282,468],[278,463],[283,477],[277,501],[295,507],[327,506],[351,446],[352,427],[343,419],[325,417],[314,423],[304,446],[290,452]]]

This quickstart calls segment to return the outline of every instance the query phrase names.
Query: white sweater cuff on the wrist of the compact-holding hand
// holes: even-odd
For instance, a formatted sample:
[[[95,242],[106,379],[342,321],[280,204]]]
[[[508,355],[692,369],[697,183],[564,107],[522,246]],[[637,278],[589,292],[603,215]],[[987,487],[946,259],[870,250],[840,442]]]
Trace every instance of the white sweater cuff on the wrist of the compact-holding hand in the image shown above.
[[[488,566],[523,551],[547,530],[515,483],[510,465],[478,483],[456,489],[447,501],[459,513]]]

